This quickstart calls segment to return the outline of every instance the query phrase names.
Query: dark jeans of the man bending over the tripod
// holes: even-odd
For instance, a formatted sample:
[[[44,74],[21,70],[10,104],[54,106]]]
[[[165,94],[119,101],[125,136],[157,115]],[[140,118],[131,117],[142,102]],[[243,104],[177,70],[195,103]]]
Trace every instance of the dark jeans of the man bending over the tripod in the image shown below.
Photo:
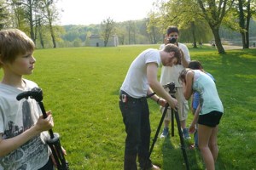
[[[121,94],[125,92],[121,91]],[[123,102],[120,95],[119,108],[127,133],[124,169],[137,170],[137,155],[140,167],[144,167],[145,163],[147,168],[152,167],[152,162],[148,160],[151,130],[147,99],[134,99],[129,96],[127,101]]]

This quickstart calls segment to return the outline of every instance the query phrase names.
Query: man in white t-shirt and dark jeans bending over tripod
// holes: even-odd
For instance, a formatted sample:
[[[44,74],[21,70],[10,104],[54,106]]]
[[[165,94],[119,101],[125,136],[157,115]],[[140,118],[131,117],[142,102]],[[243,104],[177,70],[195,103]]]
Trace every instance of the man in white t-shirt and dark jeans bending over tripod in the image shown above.
[[[166,45],[163,50],[149,48],[137,56],[130,65],[125,81],[120,88],[119,108],[125,124],[125,170],[160,169],[149,160],[150,122],[146,96],[155,93],[151,99],[159,105],[168,102],[177,107],[173,99],[158,82],[160,65],[172,66],[179,63],[183,52],[175,45]],[[161,98],[160,98],[160,97]]]

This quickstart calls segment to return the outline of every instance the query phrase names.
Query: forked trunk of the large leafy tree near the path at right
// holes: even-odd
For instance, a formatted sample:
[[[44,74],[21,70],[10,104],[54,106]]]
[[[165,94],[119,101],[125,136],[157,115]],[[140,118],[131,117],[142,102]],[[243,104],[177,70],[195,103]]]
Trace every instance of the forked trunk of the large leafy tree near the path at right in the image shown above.
[[[231,8],[234,0],[230,4],[228,0],[197,0],[202,11],[202,15],[207,20],[212,29],[215,44],[219,54],[225,54],[224,48],[219,37],[219,27],[226,12]]]

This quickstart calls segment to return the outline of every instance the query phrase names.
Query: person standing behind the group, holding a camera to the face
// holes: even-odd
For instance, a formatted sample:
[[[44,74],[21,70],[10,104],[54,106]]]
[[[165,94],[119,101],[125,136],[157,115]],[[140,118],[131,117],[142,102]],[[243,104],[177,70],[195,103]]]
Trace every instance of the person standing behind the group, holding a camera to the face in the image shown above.
[[[160,45],[160,49],[165,48],[166,44],[173,43],[178,48],[183,51],[183,57],[181,58],[181,62],[178,65],[172,65],[172,67],[163,66],[160,75],[160,83],[162,85],[166,85],[169,82],[174,82],[176,86],[175,98],[178,102],[178,116],[181,124],[181,128],[183,131],[183,138],[190,139],[189,130],[186,127],[186,120],[188,119],[189,113],[189,104],[188,101],[183,96],[183,89],[180,82],[178,82],[178,76],[184,68],[188,67],[190,61],[189,49],[187,46],[181,42],[178,42],[179,31],[177,26],[170,26],[166,31],[165,43]],[[167,90],[167,89],[166,89]],[[160,107],[160,111],[163,113],[164,107]],[[164,129],[163,133],[161,133],[161,138],[166,138],[169,134],[169,124],[171,122],[171,110],[167,110],[166,117],[164,121]]]

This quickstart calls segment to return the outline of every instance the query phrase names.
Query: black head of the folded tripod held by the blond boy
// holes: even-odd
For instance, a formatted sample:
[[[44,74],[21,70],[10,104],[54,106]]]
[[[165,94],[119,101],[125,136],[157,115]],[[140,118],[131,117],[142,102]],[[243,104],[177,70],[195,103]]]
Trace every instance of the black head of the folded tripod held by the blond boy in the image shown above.
[[[31,99],[35,99],[37,102],[40,102],[43,100],[43,91],[41,88],[32,88],[31,91],[26,91],[21,94],[18,94],[16,99],[20,100],[23,98],[28,99],[30,97]]]

